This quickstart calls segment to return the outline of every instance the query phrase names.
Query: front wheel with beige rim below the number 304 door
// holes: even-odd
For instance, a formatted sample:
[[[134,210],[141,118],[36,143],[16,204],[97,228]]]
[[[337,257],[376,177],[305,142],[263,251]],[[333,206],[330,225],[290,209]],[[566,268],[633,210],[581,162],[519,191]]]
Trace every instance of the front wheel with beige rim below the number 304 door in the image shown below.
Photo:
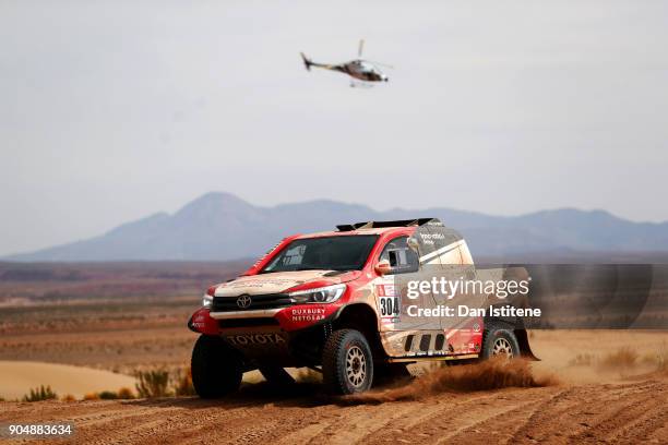
[[[362,393],[373,383],[373,357],[365,336],[355,329],[335,330],[322,352],[322,374],[334,394]]]

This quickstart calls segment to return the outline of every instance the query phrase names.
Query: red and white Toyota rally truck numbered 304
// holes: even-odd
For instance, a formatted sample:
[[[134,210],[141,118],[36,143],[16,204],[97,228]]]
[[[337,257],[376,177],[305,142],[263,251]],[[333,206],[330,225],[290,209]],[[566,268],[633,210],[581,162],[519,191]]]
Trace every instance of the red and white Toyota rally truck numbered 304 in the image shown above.
[[[407,315],[436,311],[441,297],[406,298],[406,277],[475,267],[466,241],[439,219],[336,228],[287,237],[238,278],[206,290],[188,323],[200,334],[191,362],[200,397],[234,393],[252,370],[283,383],[285,368],[307,366],[332,393],[353,394],[404,374],[408,363],[534,358],[518,317]]]

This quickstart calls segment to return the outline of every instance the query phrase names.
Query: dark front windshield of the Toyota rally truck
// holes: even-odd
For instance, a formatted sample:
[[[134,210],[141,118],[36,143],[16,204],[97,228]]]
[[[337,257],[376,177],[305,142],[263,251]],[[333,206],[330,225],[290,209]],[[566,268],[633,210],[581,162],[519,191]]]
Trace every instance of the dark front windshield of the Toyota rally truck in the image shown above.
[[[293,270],[359,270],[377,234],[306,238],[286,245],[260,273]]]

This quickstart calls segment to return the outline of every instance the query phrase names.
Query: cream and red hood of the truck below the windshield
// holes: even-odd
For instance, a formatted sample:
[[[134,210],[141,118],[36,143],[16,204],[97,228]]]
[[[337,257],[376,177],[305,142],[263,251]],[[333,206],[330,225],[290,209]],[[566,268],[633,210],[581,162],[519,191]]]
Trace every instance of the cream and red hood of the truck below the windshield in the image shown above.
[[[337,285],[358,278],[359,270],[339,273],[336,270],[299,270],[277,272],[273,274],[260,274],[239,277],[231,281],[223,282],[216,287],[215,297],[237,297],[240,294],[281,293],[295,286],[309,281],[318,284],[317,287]]]

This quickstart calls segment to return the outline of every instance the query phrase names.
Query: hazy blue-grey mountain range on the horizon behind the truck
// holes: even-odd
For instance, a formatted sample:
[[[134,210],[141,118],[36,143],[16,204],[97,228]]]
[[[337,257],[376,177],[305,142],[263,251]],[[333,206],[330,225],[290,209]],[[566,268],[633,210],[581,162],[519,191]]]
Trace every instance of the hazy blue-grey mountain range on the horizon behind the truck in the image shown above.
[[[500,217],[440,207],[378,212],[326,200],[260,207],[229,193],[207,193],[174,215],[154,214],[96,238],[5,260],[235,260],[262,254],[290,233],[331,230],[342,222],[424,216],[438,217],[462,232],[477,256],[668,251],[668,222],[632,222],[603,211],[564,208]]]

